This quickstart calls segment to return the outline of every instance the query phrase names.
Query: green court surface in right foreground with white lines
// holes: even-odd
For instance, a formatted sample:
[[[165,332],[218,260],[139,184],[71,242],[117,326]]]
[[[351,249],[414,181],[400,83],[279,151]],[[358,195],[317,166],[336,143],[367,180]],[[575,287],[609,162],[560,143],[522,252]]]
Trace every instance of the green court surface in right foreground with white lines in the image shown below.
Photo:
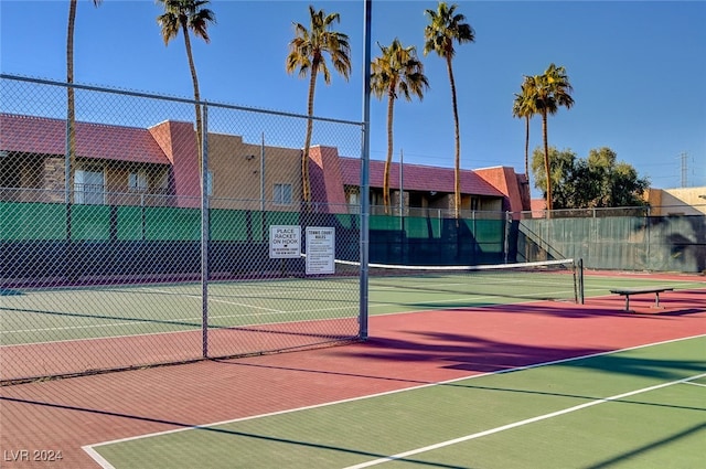
[[[695,468],[705,352],[699,335],[84,449],[115,468]]]

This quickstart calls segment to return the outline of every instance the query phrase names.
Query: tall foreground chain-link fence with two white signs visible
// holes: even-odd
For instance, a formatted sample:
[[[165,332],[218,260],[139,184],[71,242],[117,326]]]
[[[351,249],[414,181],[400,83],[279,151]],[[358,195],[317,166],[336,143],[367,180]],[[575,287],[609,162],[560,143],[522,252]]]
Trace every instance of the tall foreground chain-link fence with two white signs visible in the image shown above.
[[[3,383],[360,337],[362,125],[2,75]],[[71,137],[75,136],[75,139]],[[203,171],[201,170],[203,168]],[[202,196],[203,194],[203,196]]]

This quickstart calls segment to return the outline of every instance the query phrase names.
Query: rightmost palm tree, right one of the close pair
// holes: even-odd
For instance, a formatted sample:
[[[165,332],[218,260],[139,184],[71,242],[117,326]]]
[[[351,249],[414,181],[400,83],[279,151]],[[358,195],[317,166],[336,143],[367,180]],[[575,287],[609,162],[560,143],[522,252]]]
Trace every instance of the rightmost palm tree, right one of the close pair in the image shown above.
[[[547,138],[547,116],[555,115],[559,106],[569,109],[574,105],[570,92],[574,89],[569,83],[566,70],[563,66],[549,64],[543,75],[530,78],[532,100],[542,115],[542,138],[544,141],[544,170],[547,178],[547,211],[552,211],[552,172],[549,166],[549,143]]]

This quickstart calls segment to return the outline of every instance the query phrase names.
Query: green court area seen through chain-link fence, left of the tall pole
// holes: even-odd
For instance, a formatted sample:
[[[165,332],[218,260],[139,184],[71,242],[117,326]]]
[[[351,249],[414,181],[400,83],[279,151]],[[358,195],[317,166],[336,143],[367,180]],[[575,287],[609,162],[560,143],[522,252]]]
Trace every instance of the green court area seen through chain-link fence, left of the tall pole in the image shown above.
[[[339,296],[355,288],[354,281],[345,279],[213,284],[208,326],[292,322],[301,320],[304,311],[310,319],[350,317],[356,306],[341,306]],[[318,292],[313,299],[311,289]],[[196,283],[29,290],[3,298],[6,343],[201,330],[201,301]],[[33,315],[33,329],[23,329],[28,315]]]

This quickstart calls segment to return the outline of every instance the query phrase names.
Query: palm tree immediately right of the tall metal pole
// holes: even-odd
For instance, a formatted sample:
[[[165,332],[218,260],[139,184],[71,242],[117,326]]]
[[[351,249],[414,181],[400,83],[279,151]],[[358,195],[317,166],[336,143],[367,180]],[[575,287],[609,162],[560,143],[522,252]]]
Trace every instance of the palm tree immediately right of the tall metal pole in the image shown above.
[[[424,64],[417,58],[417,49],[411,45],[403,47],[397,38],[385,47],[379,45],[382,55],[371,64],[371,90],[378,98],[387,96],[387,160],[383,182],[383,201],[385,213],[389,213],[389,167],[393,161],[393,109],[395,99],[400,93],[405,99],[417,96],[424,98],[424,89],[429,82],[424,74]],[[402,196],[402,188],[400,196]]]

